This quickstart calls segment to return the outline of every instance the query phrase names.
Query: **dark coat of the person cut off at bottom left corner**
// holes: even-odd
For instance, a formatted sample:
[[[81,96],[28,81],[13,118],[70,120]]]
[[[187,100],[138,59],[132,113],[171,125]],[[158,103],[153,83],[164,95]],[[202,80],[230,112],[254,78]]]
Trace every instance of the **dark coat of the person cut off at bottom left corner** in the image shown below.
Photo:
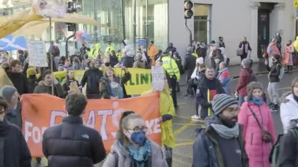
[[[31,167],[31,154],[19,127],[0,123],[0,167]]]

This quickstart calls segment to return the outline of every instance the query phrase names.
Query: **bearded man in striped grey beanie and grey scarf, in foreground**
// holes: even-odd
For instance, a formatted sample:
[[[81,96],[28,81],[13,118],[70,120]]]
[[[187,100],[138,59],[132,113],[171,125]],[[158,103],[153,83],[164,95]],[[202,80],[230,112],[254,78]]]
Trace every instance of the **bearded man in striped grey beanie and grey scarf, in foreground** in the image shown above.
[[[213,115],[205,119],[206,128],[198,129],[192,167],[248,167],[243,127],[237,124],[237,100],[217,94],[212,109]]]

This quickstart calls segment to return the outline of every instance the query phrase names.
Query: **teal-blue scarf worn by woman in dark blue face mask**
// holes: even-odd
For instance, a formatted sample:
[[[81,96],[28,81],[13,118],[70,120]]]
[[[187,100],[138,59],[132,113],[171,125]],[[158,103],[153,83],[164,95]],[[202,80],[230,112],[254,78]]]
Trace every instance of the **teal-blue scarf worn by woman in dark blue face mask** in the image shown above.
[[[136,149],[134,146],[128,146],[128,151],[132,157],[133,162],[137,165],[136,167],[145,167],[145,162],[151,155],[150,141],[146,139],[145,145]]]

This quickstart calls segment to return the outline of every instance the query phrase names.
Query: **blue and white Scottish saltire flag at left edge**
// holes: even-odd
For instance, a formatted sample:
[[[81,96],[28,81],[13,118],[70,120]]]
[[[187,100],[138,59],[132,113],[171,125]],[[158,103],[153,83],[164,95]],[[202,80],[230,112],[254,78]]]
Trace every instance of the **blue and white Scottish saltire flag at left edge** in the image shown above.
[[[0,39],[0,50],[27,50],[26,40],[23,36],[15,38],[12,35],[8,35]]]

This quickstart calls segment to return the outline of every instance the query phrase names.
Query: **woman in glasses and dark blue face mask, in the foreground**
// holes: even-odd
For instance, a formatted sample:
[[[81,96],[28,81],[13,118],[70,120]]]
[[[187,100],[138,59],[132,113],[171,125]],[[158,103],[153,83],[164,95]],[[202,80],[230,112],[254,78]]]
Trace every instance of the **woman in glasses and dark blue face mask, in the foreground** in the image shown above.
[[[125,111],[117,140],[102,167],[168,167],[160,146],[146,136],[148,127],[139,114]]]

